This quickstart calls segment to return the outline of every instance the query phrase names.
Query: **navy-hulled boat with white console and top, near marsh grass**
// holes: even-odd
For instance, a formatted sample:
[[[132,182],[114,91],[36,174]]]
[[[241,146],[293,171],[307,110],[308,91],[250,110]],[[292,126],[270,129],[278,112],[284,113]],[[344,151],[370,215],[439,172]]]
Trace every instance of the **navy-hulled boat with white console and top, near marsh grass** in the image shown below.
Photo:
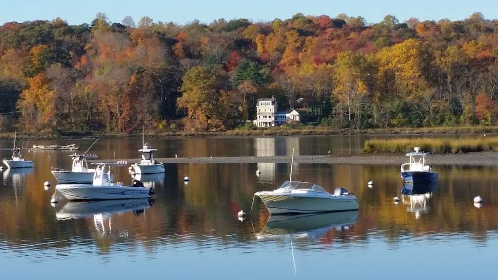
[[[404,183],[430,184],[438,181],[438,173],[432,172],[429,165],[425,164],[428,152],[421,152],[419,147],[414,152],[406,153],[410,157],[409,163],[401,165],[401,178]],[[408,169],[405,169],[408,167]]]

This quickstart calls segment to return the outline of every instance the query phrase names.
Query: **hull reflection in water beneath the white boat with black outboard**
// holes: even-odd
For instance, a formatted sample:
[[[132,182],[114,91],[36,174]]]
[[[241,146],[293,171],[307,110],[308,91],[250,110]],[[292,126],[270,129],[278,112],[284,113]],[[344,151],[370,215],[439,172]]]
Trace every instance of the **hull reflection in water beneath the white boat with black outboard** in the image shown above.
[[[80,219],[87,217],[103,217],[133,211],[139,215],[143,210],[151,206],[147,198],[118,199],[118,200],[95,200],[95,201],[70,201],[56,205],[56,217],[58,220]]]

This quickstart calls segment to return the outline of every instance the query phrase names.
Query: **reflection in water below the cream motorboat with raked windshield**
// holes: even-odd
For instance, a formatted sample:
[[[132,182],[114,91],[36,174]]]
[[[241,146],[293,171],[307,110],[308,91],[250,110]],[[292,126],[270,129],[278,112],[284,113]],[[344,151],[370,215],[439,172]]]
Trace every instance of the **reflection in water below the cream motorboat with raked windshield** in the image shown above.
[[[358,211],[292,216],[271,215],[257,239],[310,238],[320,239],[332,229],[349,230],[358,219]]]

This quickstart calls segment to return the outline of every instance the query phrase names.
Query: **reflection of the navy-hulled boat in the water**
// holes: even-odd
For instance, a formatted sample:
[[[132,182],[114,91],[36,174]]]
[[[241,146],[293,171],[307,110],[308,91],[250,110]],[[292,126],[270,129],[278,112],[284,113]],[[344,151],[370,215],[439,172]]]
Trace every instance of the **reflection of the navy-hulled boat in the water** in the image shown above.
[[[415,219],[420,218],[421,213],[430,210],[428,200],[432,198],[432,193],[438,188],[437,182],[430,184],[404,183],[401,188],[401,201],[408,205],[406,211],[415,214]]]

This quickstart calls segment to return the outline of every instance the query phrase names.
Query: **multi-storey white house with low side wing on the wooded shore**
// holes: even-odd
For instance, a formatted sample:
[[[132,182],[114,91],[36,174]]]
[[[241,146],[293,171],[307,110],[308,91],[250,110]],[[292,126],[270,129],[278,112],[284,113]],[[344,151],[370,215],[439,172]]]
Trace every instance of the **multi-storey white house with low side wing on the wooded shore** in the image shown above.
[[[253,121],[258,128],[281,126],[287,122],[300,122],[301,118],[296,110],[277,112],[277,101],[272,98],[261,98],[256,103],[256,119]]]

